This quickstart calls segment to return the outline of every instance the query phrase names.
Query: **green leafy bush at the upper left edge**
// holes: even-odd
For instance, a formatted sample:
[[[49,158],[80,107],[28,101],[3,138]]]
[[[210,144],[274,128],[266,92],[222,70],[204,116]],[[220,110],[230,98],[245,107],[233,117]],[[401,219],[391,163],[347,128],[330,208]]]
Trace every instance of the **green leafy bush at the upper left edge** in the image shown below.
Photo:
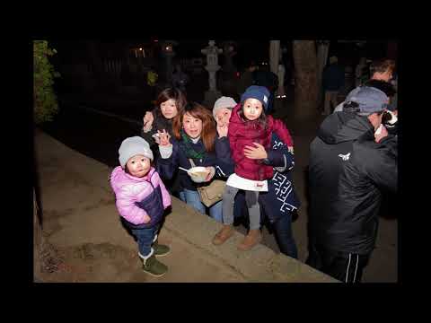
[[[33,112],[36,124],[51,121],[58,112],[57,96],[52,85],[59,77],[48,57],[57,53],[47,40],[33,41]]]

